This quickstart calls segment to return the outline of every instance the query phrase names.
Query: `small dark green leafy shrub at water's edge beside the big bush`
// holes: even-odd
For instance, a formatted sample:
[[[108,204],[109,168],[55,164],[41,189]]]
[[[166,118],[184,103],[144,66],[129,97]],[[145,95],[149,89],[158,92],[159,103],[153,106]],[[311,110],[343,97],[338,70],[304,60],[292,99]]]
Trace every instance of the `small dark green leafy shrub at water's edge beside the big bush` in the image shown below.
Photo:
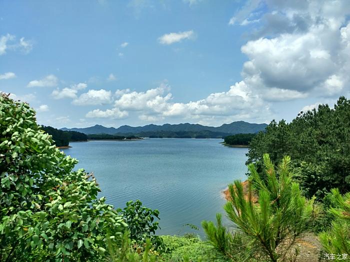
[[[126,207],[117,210],[122,216],[127,229],[130,233],[130,239],[137,244],[145,243],[146,239],[150,239],[153,246],[158,249],[164,249],[162,241],[158,236],[154,236],[155,231],[159,227],[159,222],[154,219],[159,219],[159,211],[151,210],[150,208],[142,207],[139,200],[132,200],[126,203]]]

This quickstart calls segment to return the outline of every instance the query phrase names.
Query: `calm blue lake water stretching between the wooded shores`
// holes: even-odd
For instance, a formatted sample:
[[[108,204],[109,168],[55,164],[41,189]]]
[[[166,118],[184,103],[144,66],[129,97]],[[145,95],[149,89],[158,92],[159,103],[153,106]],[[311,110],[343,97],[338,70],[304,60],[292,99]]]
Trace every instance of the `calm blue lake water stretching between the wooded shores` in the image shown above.
[[[128,200],[160,212],[159,235],[193,232],[202,220],[224,213],[222,190],[245,180],[246,148],[224,147],[221,139],[144,139],[72,142],[65,154],[77,168],[93,172],[108,204],[123,208]]]

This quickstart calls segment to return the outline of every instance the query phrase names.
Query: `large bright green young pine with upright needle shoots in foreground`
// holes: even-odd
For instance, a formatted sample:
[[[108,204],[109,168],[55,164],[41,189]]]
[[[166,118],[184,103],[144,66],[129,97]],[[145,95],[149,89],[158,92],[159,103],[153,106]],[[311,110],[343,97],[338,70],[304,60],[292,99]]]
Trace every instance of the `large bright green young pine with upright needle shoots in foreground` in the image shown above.
[[[248,166],[248,194],[240,181],[229,185],[231,200],[224,209],[227,217],[250,241],[255,259],[277,262],[288,256],[295,242],[312,227],[313,201],[301,196],[299,186],[292,182],[290,158],[283,157],[276,169],[268,154],[263,155],[264,176]],[[258,192],[258,205],[252,200],[251,185]]]

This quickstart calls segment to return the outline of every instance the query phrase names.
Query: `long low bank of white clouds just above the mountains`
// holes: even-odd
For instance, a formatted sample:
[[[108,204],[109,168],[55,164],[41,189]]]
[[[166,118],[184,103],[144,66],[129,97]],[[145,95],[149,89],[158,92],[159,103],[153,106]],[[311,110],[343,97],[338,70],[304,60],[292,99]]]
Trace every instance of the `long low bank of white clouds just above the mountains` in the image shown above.
[[[125,118],[128,112],[138,112],[140,120],[150,122],[168,117],[212,122],[215,117],[252,119],[269,114],[268,106],[243,81],[232,85],[226,92],[211,93],[204,99],[187,103],[173,102],[170,87],[166,84],[144,92],[117,90],[115,96],[112,109],[95,109],[86,117]],[[252,105],[254,109],[251,109]],[[246,113],[247,110],[249,113]]]

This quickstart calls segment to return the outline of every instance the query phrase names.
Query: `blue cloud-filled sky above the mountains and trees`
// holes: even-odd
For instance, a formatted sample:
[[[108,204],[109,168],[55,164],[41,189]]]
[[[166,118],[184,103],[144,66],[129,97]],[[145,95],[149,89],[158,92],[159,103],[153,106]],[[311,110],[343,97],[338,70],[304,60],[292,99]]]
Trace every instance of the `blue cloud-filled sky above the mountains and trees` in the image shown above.
[[[0,91],[56,128],[291,121],[349,78],[349,0],[0,0]]]

